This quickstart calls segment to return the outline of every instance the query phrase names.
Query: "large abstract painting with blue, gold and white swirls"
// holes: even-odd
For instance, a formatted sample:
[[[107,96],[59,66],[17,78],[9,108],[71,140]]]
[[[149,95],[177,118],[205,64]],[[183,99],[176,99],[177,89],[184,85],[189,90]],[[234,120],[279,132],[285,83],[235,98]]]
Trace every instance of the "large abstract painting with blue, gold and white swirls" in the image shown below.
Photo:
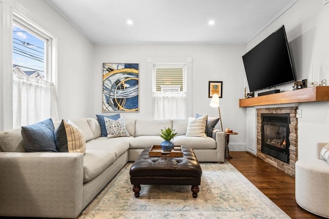
[[[139,112],[139,63],[102,67],[102,112]]]

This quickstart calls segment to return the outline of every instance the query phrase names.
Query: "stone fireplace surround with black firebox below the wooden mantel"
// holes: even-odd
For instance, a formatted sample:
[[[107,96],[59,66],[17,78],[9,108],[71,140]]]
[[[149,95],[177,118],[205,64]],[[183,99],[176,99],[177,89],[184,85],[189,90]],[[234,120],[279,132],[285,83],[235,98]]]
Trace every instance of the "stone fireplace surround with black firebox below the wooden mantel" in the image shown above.
[[[295,163],[297,161],[297,143],[298,143],[298,120],[296,118],[296,110],[298,107],[275,107],[275,108],[258,108],[257,109],[257,156],[260,157],[262,160],[265,162],[277,167],[278,169],[286,172],[290,176],[295,177]],[[262,128],[262,115],[266,116],[266,114],[269,115],[269,117],[276,117],[276,115],[282,114],[283,117],[287,116],[289,123],[287,125],[287,131],[285,128],[279,128],[278,131],[276,132],[277,140],[273,139],[271,141],[268,141],[269,149],[266,148],[265,153],[262,152],[262,134],[264,137],[264,129]],[[271,116],[275,115],[275,116]],[[280,130],[280,131],[279,131]],[[283,131],[286,131],[286,133],[282,133]],[[286,136],[289,135],[289,136]],[[284,137],[283,137],[284,136]],[[272,137],[276,138],[276,137]],[[282,138],[282,140],[281,140]],[[286,139],[283,139],[286,138]],[[282,143],[279,144],[280,140]],[[283,141],[286,140],[286,142],[283,143]],[[286,159],[282,159],[278,156],[278,158],[273,157],[273,154],[277,154],[276,151],[272,150],[275,149],[276,147],[273,147],[272,145],[275,145],[276,143],[273,142],[278,142],[278,149],[277,151],[280,151],[281,148],[285,148],[285,144],[287,144],[288,151],[283,152],[283,156],[286,155]],[[284,144],[284,147],[282,146]],[[264,145],[264,144],[263,144]],[[266,144],[265,144],[266,145]],[[272,149],[271,149],[272,148]],[[263,148],[264,151],[264,148]],[[267,152],[269,151],[269,152]],[[284,151],[284,150],[281,150]],[[272,155],[271,155],[272,154]],[[275,156],[275,155],[274,155]]]

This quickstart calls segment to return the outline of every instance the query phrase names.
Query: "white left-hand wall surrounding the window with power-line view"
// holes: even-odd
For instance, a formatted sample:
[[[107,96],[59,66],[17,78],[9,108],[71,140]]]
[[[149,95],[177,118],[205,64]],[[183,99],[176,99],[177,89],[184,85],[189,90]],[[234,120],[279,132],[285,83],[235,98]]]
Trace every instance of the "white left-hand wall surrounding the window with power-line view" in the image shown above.
[[[93,116],[94,45],[45,1],[0,0],[0,130],[12,127],[12,11],[58,38],[59,118]]]

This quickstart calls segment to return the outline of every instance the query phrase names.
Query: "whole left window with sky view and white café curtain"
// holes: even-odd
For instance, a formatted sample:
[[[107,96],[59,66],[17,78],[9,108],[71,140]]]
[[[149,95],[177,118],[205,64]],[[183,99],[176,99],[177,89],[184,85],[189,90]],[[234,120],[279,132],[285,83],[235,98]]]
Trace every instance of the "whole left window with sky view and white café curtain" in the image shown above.
[[[13,128],[57,121],[56,38],[16,13],[12,31]]]

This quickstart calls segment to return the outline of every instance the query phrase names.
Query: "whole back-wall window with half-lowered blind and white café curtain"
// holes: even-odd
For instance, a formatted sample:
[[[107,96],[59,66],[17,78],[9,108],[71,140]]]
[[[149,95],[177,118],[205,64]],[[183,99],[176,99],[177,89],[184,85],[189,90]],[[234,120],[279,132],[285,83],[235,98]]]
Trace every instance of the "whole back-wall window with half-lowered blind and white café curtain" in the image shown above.
[[[153,117],[186,118],[186,64],[157,64],[153,75]]]

